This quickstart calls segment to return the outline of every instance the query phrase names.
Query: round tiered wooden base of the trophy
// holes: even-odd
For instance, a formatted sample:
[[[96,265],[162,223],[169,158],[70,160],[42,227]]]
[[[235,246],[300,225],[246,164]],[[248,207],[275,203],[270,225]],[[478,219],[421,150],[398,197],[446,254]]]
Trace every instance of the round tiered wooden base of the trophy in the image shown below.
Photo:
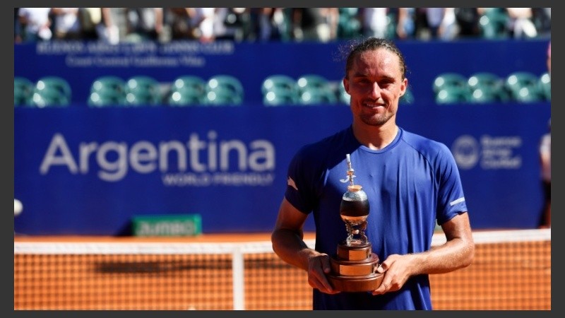
[[[376,273],[379,257],[371,252],[371,243],[338,245],[338,254],[330,259],[328,280],[336,290],[344,292],[370,291],[379,288],[383,274]]]

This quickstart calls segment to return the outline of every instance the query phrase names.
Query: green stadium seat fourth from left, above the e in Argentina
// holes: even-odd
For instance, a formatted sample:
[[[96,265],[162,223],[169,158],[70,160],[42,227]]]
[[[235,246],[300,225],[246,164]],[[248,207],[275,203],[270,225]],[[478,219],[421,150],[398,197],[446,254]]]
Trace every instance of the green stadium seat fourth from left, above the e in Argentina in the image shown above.
[[[162,103],[160,84],[150,76],[132,76],[126,81],[126,105]]]

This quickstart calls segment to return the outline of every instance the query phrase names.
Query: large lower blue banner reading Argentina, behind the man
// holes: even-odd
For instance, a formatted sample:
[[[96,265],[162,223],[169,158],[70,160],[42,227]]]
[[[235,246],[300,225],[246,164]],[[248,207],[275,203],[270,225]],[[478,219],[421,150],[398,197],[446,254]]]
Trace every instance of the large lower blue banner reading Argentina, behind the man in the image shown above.
[[[549,102],[404,105],[398,124],[451,148],[471,225],[533,228]],[[28,235],[129,235],[133,216],[200,214],[204,233],[273,228],[297,149],[347,106],[14,109],[14,194]],[[314,230],[309,220],[305,230]]]

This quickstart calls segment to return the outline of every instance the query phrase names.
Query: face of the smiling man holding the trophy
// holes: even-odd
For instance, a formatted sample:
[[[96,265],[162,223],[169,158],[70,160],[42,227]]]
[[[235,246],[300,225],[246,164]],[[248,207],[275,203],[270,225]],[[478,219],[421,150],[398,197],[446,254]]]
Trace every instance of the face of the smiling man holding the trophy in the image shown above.
[[[408,80],[402,78],[398,56],[383,48],[359,54],[343,86],[351,96],[353,116],[364,124],[381,126],[396,116]]]

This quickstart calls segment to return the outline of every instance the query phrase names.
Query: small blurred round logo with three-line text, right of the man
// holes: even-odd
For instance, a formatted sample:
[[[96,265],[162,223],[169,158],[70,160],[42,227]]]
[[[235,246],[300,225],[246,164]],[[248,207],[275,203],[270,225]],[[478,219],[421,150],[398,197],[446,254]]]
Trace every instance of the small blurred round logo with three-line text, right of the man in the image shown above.
[[[459,136],[451,145],[451,153],[460,169],[468,170],[480,164],[484,170],[520,169],[522,157],[520,136],[483,135],[480,140],[470,135]]]

